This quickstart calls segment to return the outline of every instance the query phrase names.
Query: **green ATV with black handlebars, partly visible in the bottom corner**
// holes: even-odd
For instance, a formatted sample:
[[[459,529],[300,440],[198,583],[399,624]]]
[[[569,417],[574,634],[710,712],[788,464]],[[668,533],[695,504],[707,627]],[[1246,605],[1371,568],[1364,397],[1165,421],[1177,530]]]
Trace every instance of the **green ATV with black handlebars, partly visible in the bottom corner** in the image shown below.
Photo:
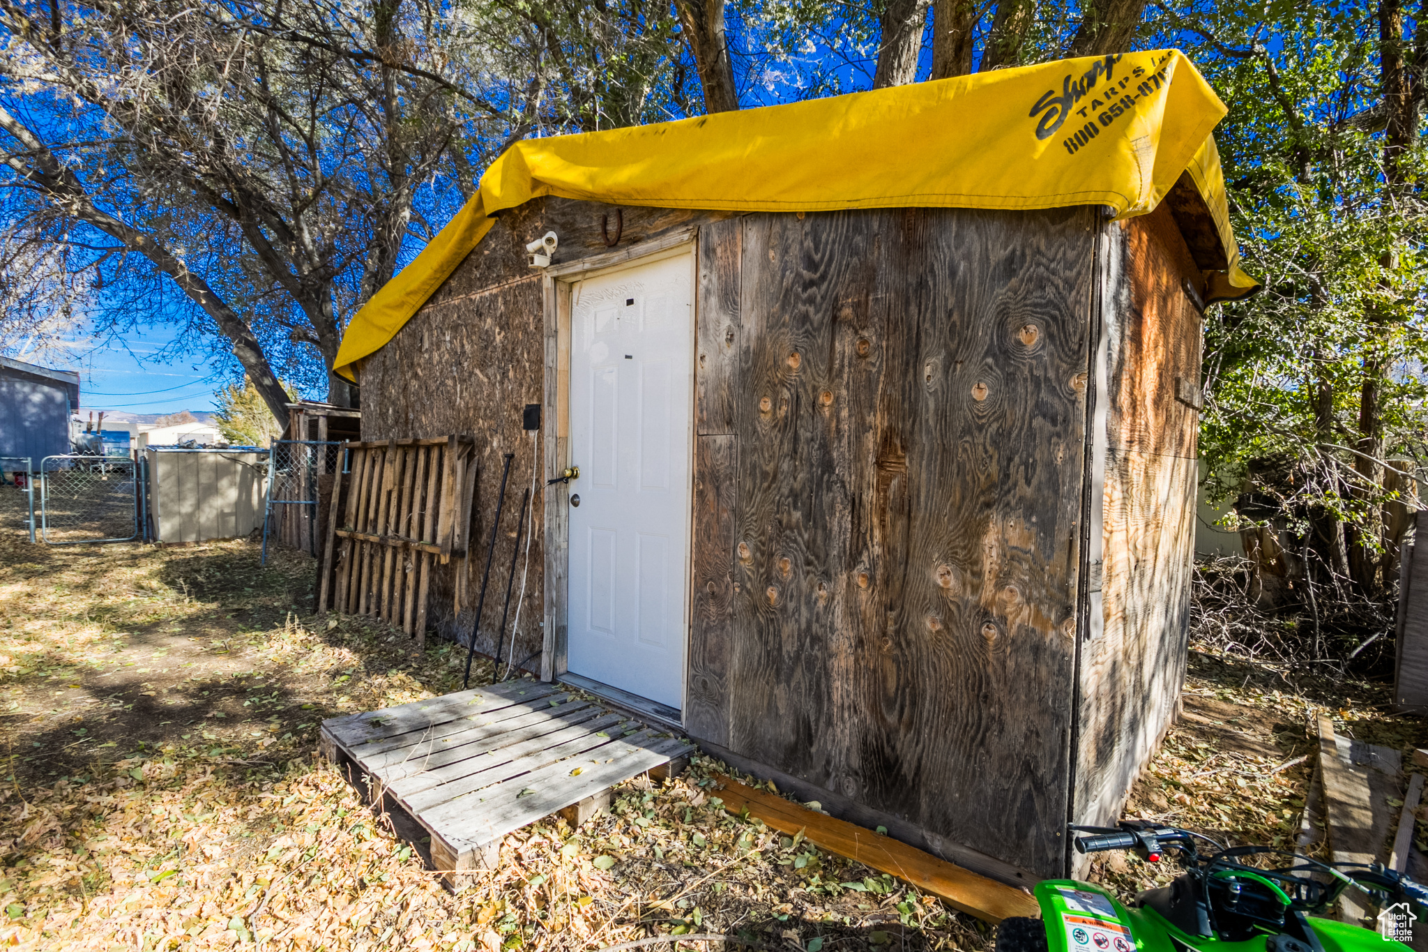
[[[1405,926],[1428,905],[1428,891],[1377,864],[1325,864],[1264,846],[1225,849],[1188,829],[1145,822],[1071,829],[1094,834],[1072,841],[1077,852],[1130,849],[1158,862],[1174,849],[1187,872],[1168,886],[1141,892],[1130,908],[1092,883],[1042,881],[1035,888],[1041,918],[1002,921],[997,952],[1408,952],[1405,943],[1372,929],[1311,913],[1332,908],[1349,886],[1374,893]],[[1197,839],[1214,852],[1201,854]],[[1285,856],[1287,865],[1241,862],[1250,856]],[[1428,929],[1428,919],[1421,928]]]

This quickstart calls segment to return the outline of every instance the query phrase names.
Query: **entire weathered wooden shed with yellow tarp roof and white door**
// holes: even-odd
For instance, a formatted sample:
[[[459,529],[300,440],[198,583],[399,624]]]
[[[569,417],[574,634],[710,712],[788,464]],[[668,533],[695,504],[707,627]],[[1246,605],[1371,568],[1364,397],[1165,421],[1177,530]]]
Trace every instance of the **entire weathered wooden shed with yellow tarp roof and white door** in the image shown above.
[[[1064,875],[1178,705],[1201,315],[1255,288],[1224,111],[1162,50],[524,141],[338,371],[363,440],[474,435],[473,540],[514,454],[500,572],[534,481],[533,621],[488,598],[480,651]],[[433,584],[448,638],[480,568]]]

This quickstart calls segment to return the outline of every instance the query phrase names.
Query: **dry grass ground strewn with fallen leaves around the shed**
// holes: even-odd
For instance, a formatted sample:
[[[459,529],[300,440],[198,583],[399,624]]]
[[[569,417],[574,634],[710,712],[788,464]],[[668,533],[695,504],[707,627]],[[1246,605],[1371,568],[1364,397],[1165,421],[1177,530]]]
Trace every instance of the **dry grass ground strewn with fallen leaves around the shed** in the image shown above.
[[[313,751],[323,718],[458,688],[463,658],[313,617],[313,562],[250,541],[31,547],[0,492],[0,943],[34,949],[600,949],[660,933],[768,948],[985,949],[931,896],[731,816],[695,762],[573,831],[508,836],[453,895]],[[6,507],[11,507],[10,511]],[[478,662],[474,682],[490,678]],[[1342,697],[1352,691],[1351,697]],[[1375,694],[1377,692],[1377,694]],[[1357,699],[1355,699],[1357,698]],[[1185,718],[1128,815],[1234,842],[1292,835],[1305,718],[1424,744],[1371,684],[1289,684],[1200,651]],[[1100,861],[1128,895],[1172,868]],[[688,945],[687,948],[701,948]]]

